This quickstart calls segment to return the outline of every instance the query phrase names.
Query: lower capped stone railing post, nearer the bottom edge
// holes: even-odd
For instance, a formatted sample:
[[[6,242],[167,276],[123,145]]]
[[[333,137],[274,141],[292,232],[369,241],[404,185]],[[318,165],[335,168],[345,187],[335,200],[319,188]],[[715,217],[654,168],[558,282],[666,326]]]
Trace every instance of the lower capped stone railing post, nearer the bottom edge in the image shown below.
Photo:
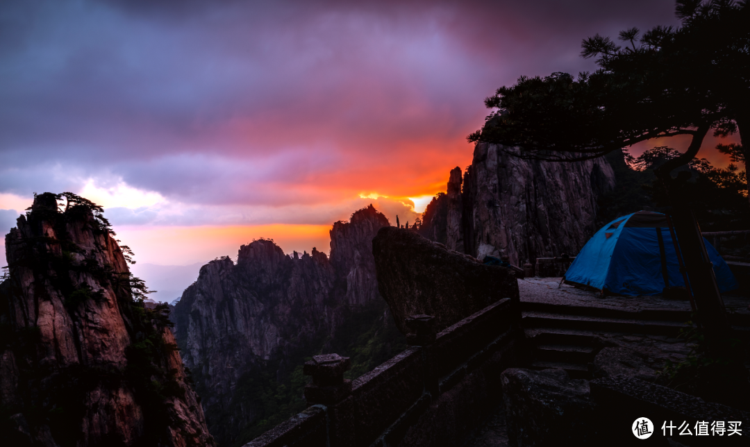
[[[344,379],[351,368],[349,357],[338,354],[313,356],[305,362],[302,373],[312,376],[313,383],[305,386],[308,405],[325,405],[329,420],[329,443],[332,447],[354,446],[354,403],[352,381]]]

